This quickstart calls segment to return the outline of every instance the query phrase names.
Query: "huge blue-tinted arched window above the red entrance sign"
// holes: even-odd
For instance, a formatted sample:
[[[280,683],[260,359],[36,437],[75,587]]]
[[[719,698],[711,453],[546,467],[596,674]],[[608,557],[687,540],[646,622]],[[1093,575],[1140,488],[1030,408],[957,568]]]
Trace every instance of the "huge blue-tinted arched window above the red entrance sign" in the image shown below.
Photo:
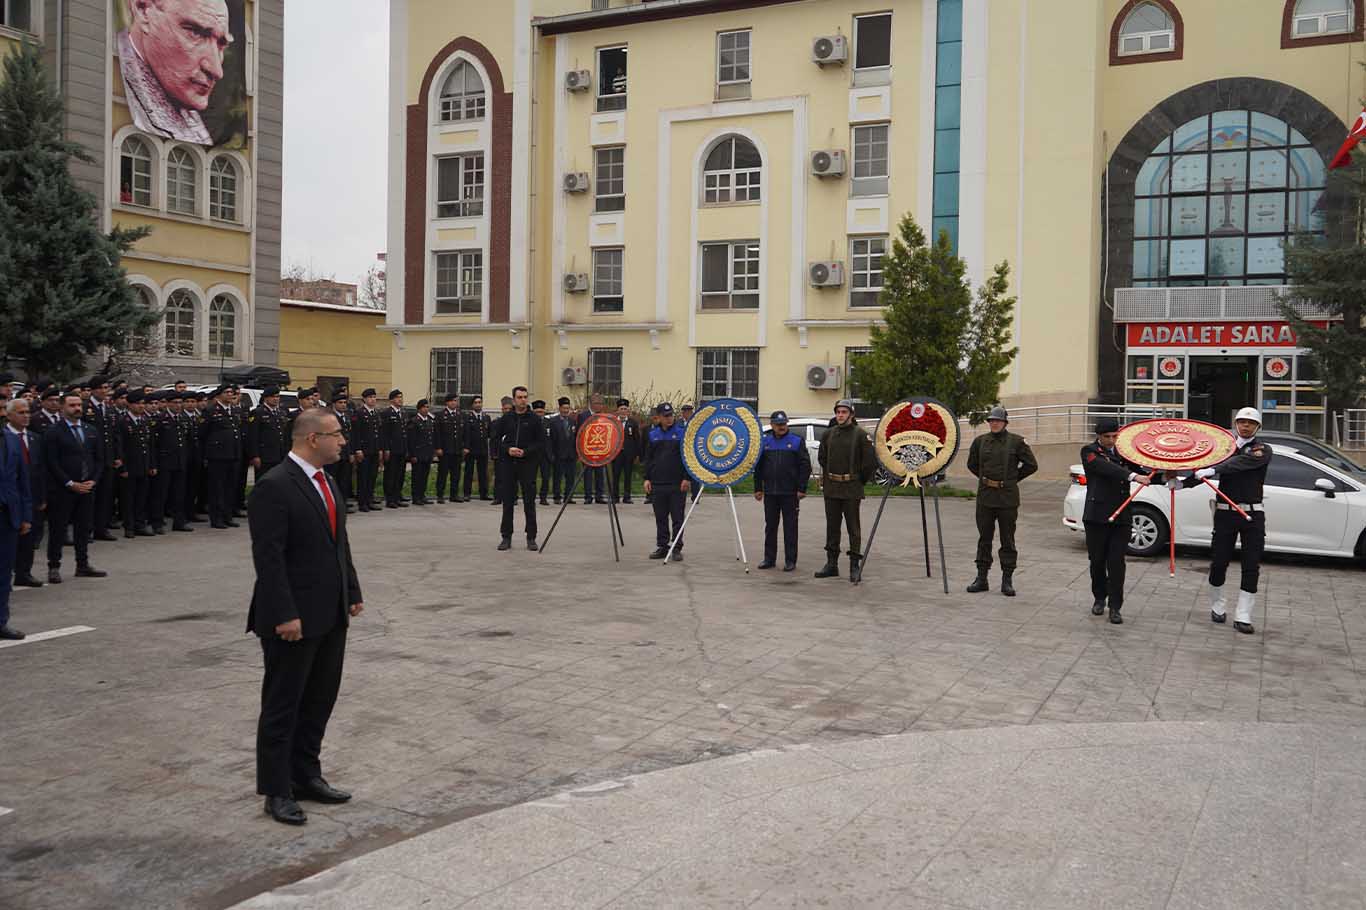
[[[1284,284],[1285,243],[1324,230],[1326,172],[1302,133],[1265,113],[1182,124],[1134,184],[1134,284]]]

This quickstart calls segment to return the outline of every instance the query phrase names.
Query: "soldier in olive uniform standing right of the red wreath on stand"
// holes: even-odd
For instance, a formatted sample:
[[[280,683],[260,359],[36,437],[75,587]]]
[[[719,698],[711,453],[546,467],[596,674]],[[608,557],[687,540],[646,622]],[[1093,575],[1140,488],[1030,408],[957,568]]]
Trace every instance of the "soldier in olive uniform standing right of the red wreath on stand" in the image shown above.
[[[967,593],[990,590],[992,537],[1001,529],[1001,593],[1015,596],[1015,522],[1020,512],[1022,480],[1038,470],[1038,460],[1023,436],[1005,429],[1009,415],[996,406],[986,415],[990,433],[973,440],[967,470],[977,477],[977,578]]]

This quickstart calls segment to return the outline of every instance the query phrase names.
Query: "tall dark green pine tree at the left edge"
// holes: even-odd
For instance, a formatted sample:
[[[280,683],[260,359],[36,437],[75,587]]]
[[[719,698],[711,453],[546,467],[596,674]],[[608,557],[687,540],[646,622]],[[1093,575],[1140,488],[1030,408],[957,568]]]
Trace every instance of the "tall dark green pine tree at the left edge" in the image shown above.
[[[0,74],[0,357],[53,378],[158,320],[120,265],[148,228],[100,231],[94,195],[67,167],[92,158],[63,138],[61,113],[25,42]]]

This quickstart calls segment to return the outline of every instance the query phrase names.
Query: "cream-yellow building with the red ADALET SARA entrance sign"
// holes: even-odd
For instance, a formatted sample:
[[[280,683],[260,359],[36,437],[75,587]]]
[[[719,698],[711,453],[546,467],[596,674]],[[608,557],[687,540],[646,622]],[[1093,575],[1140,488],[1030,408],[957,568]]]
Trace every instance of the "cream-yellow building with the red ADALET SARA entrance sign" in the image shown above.
[[[393,0],[395,383],[828,413],[908,213],[974,284],[1009,262],[1005,402],[1321,432],[1274,288],[1361,111],[1361,7]]]

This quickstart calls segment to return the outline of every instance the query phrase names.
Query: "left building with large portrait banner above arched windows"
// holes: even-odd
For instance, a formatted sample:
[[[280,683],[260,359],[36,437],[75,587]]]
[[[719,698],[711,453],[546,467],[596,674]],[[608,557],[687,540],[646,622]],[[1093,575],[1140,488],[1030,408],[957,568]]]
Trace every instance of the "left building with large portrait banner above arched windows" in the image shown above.
[[[180,56],[167,51],[184,26],[171,20],[172,4],[0,7],[0,52],[25,38],[42,46],[66,102],[67,138],[94,158],[72,163],[72,172],[100,201],[104,227],[152,228],[123,260],[143,303],[163,314],[124,358],[135,378],[206,383],[224,368],[273,366],[283,0],[197,4],[208,18],[194,23],[195,41]],[[197,75],[176,75],[186,61]],[[180,100],[197,94],[198,102]]]

